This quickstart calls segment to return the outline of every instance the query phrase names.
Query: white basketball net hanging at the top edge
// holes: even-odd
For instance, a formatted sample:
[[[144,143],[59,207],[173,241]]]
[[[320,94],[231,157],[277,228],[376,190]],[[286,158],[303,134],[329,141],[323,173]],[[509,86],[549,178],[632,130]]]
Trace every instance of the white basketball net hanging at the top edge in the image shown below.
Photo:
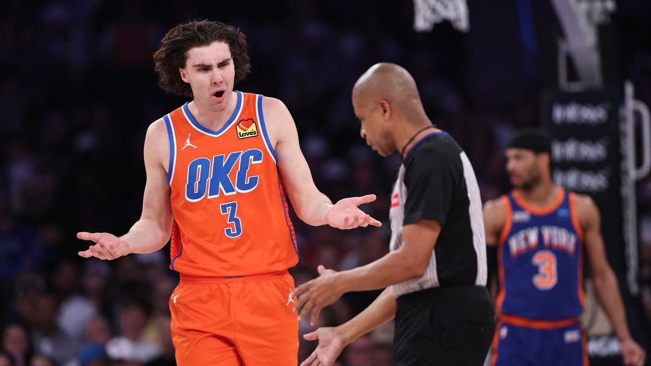
[[[413,29],[431,32],[434,24],[449,20],[459,31],[470,30],[466,0],[413,0]]]

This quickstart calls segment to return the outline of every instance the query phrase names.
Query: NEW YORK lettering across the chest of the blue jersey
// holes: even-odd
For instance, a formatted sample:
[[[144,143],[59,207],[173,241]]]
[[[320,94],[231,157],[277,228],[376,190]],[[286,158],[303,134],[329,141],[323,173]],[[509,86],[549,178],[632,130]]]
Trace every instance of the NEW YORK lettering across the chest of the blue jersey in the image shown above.
[[[508,239],[508,248],[512,258],[518,257],[527,251],[538,249],[538,233],[542,232],[542,245],[547,249],[566,251],[574,255],[577,236],[564,227],[537,226],[527,227],[516,232]]]

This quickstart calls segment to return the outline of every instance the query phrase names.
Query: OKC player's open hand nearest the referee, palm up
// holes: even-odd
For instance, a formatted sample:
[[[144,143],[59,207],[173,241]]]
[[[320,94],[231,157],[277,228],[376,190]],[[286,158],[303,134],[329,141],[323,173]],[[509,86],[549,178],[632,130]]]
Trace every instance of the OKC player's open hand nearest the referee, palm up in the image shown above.
[[[327,224],[337,229],[355,229],[355,227],[367,227],[368,225],[382,226],[380,221],[357,208],[360,204],[371,203],[375,199],[375,195],[342,199],[326,212]]]

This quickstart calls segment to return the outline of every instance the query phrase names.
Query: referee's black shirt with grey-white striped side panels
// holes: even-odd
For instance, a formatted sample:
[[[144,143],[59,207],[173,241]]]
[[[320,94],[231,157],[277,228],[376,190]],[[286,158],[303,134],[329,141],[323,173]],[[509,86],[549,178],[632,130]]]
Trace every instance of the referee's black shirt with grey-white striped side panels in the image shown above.
[[[396,296],[430,287],[486,285],[486,236],[475,171],[445,132],[411,147],[391,193],[391,250],[402,246],[402,227],[438,221],[441,233],[424,275],[392,286]]]

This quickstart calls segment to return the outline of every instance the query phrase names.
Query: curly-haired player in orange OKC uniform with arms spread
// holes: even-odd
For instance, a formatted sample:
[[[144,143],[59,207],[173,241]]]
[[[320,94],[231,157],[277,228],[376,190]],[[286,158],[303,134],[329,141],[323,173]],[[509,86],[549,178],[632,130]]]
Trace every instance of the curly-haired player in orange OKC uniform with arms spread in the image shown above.
[[[295,366],[287,268],[298,249],[285,191],[300,219],[339,229],[380,226],[357,208],[375,196],[332,204],[314,186],[284,104],[233,90],[250,68],[238,29],[178,25],[154,60],[159,85],[192,101],[147,130],[141,219],[120,237],[79,232],[96,243],[79,255],[150,253],[171,237],[170,267],[180,273],[170,298],[178,365]]]

